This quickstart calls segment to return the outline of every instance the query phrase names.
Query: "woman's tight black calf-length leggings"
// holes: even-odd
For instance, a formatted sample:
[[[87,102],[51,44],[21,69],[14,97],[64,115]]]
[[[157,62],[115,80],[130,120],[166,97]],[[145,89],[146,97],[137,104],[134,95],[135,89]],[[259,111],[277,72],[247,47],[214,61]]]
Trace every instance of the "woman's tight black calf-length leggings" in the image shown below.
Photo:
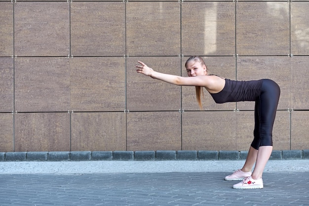
[[[272,80],[263,80],[261,95],[255,100],[254,139],[251,146],[258,150],[260,146],[272,146],[272,126],[279,102],[280,88]]]

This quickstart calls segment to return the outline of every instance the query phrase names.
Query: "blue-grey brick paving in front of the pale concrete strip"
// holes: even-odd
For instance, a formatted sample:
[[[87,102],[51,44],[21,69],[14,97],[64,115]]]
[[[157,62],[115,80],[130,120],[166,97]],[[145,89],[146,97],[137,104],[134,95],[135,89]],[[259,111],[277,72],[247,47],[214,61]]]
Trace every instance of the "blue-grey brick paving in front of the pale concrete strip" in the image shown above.
[[[237,190],[227,172],[0,174],[1,206],[308,206],[309,172],[265,172]]]

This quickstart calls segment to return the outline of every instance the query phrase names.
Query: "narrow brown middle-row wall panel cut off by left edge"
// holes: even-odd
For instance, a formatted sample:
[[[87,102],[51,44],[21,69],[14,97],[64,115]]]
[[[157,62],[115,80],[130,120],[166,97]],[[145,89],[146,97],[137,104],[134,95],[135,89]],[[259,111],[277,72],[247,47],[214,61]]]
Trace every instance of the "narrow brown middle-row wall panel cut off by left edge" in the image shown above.
[[[14,110],[14,60],[0,58],[0,112]]]

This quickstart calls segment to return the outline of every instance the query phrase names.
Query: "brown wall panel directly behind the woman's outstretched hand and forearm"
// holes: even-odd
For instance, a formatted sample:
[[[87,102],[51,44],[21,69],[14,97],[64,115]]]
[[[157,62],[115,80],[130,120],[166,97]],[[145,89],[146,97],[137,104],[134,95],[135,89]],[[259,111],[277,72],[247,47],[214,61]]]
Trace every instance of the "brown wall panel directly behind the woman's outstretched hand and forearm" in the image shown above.
[[[138,74],[135,65],[142,60],[158,72],[181,75],[179,57],[129,57],[127,59],[127,109],[130,111],[169,111],[181,109],[181,87]]]

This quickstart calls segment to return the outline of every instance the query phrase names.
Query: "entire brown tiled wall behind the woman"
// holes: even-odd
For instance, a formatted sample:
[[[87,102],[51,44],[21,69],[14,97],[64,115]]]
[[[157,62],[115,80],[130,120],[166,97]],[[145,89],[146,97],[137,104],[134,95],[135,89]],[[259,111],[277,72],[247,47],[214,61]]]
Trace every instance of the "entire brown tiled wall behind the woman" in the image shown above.
[[[14,0],[13,0],[14,1]],[[248,150],[254,102],[137,74],[272,79],[274,150],[309,149],[309,1],[0,0],[0,151]],[[293,109],[293,110],[292,110]]]

